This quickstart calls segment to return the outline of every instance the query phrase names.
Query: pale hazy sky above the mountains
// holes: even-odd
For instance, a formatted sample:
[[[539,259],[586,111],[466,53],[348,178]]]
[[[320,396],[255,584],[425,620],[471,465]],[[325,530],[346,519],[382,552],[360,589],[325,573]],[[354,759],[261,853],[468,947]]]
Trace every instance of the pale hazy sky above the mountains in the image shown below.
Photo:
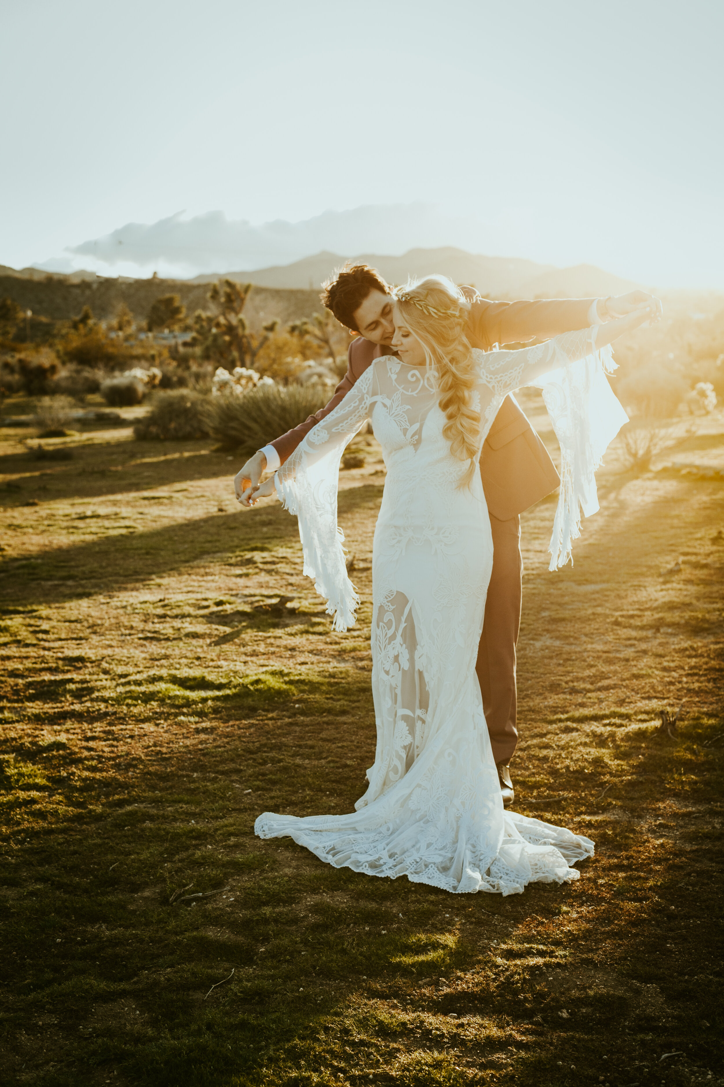
[[[724,289],[723,40],[721,0],[4,0],[0,264],[456,245]]]

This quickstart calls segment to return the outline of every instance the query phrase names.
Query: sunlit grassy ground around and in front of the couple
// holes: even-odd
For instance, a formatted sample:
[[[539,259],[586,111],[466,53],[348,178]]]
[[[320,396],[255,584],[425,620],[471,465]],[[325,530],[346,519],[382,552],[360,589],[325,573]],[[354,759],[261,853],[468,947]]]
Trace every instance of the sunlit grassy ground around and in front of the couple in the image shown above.
[[[335,635],[295,522],[238,511],[225,454],[119,428],[35,461],[2,432],[0,1079],[722,1083],[724,492],[696,464],[723,424],[686,475],[613,457],[572,569],[546,571],[551,502],[524,517],[517,807],[597,852],[505,900],[253,835],[364,790],[373,442]]]

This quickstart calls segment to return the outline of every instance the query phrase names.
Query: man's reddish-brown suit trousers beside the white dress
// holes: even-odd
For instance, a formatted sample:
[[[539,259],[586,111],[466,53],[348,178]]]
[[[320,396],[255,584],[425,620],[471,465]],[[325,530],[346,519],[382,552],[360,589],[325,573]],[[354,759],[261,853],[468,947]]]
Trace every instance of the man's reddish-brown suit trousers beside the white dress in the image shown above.
[[[491,529],[494,561],[475,672],[493,758],[496,763],[508,763],[518,744],[516,646],[523,597],[520,516],[499,521],[491,514]]]

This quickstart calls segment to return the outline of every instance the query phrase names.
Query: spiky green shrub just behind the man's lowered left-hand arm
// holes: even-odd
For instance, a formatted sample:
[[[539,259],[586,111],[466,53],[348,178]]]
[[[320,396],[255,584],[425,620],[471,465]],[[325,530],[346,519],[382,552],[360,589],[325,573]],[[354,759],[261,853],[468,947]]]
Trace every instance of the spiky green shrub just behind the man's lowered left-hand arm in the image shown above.
[[[241,396],[217,396],[209,405],[208,429],[225,448],[253,453],[272,438],[303,423],[329,400],[327,386],[259,385]]]

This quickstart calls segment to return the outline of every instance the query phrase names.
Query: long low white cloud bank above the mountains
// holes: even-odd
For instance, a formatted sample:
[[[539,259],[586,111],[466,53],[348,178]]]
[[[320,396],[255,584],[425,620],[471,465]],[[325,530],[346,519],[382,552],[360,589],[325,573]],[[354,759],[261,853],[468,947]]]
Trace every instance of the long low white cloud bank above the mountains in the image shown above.
[[[327,211],[301,223],[275,220],[257,226],[245,220],[228,220],[221,211],[182,216],[183,212],[178,212],[152,224],[127,223],[67,252],[110,266],[172,266],[193,275],[291,264],[322,250],[343,257],[402,254],[416,247],[437,246],[490,252],[495,250],[498,234],[494,226],[453,217],[423,203]]]

